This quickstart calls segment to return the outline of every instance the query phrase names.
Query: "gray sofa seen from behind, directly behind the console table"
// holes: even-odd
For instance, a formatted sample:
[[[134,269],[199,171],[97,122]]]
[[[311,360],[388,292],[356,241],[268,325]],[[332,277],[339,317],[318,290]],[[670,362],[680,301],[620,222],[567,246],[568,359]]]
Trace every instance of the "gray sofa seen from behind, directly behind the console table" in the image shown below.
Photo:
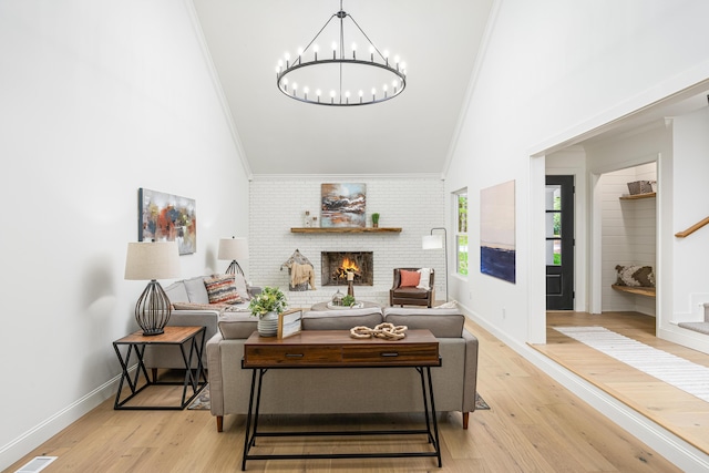
[[[410,329],[429,329],[438,338],[442,366],[432,369],[438,411],[460,411],[463,429],[475,410],[477,339],[464,327],[458,309],[366,308],[305,311],[304,330],[349,330],[382,321]],[[251,370],[242,369],[245,340],[256,330],[248,313],[225,313],[207,341],[212,414],[223,430],[227,414],[248,413]],[[264,377],[260,412],[359,413],[420,412],[421,380],[411,368],[286,369]]]

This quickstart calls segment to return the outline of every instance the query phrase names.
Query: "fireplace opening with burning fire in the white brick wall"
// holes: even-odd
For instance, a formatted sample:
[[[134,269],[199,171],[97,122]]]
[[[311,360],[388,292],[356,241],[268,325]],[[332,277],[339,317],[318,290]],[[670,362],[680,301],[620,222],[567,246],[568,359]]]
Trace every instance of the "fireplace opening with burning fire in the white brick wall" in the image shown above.
[[[354,286],[374,285],[372,251],[320,253],[320,281],[322,286],[347,286],[347,274],[354,274]]]

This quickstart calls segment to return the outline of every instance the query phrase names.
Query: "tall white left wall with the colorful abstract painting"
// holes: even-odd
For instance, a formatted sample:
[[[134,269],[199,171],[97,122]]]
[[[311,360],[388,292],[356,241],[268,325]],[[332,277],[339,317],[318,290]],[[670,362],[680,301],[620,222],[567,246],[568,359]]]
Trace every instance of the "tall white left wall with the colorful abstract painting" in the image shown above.
[[[138,187],[196,199],[193,276],[248,233],[248,182],[192,3],[2,1],[0,44],[1,470],[115,393]]]

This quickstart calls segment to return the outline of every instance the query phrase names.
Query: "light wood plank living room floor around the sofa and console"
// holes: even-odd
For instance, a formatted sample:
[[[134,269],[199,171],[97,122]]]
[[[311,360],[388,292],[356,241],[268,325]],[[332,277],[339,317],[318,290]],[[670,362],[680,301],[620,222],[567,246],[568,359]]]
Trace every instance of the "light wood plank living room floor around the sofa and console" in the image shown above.
[[[676,472],[667,460],[598,414],[496,338],[474,323],[480,339],[477,390],[492,408],[440,421],[443,467],[432,459],[251,461],[248,471],[268,472]],[[395,395],[395,393],[392,393]],[[415,415],[288,417],[292,424],[354,428],[418,422]],[[381,428],[381,424],[379,424]],[[44,470],[72,472],[234,472],[240,469],[244,417],[228,415],[217,433],[208,411],[114,411],[109,400],[8,469],[35,455],[58,455]],[[405,440],[410,449],[418,440]],[[425,446],[423,443],[421,445]],[[279,451],[394,451],[393,439],[264,439],[259,449]]]

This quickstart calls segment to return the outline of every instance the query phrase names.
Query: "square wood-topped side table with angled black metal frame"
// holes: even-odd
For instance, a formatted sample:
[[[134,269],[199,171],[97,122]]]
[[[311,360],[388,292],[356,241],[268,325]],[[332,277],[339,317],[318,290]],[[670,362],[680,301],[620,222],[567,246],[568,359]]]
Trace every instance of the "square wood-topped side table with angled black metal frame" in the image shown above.
[[[113,342],[115,354],[121,362],[122,376],[119,383],[119,392],[115,394],[115,402],[113,409],[131,409],[131,410],[183,410],[193,399],[199,394],[199,392],[207,385],[207,378],[202,364],[202,351],[204,350],[205,342],[205,327],[165,327],[165,332],[154,336],[144,336],[143,330],[138,330],[129,336],[123,337],[120,340]],[[182,359],[185,363],[185,379],[183,382],[171,381],[157,381],[151,380],[147,376],[147,369],[145,368],[145,348],[147,346],[178,346],[182,353]],[[188,352],[185,352],[186,346],[189,346]],[[120,347],[127,347],[125,357],[121,353]],[[137,359],[137,368],[135,369],[135,376],[131,378],[130,367],[131,357],[135,353]],[[192,368],[193,360],[196,360],[197,367]],[[145,384],[138,388],[138,381],[141,373],[145,378]],[[127,383],[131,394],[121,400],[121,392],[123,390],[123,383]],[[151,385],[181,385],[182,384],[182,399],[179,405],[125,405],[131,399],[142,392],[144,389]],[[187,398],[187,389],[192,388],[192,395]]]

